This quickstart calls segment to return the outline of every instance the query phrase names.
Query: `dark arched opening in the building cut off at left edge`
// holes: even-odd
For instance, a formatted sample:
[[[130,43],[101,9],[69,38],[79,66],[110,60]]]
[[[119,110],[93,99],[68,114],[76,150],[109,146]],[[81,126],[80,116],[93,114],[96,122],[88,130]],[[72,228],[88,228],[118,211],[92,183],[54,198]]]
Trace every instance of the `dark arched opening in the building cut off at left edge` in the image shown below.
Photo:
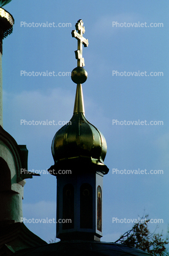
[[[0,157],[0,191],[11,190],[11,175],[7,162]]]

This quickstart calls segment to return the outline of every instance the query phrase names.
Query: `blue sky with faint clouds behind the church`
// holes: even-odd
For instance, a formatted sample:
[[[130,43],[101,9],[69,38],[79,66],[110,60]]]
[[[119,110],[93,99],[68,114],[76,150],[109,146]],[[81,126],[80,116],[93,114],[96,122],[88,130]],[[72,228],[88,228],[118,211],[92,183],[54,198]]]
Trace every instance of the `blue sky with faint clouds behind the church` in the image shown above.
[[[137,219],[144,211],[151,219],[163,219],[159,232],[163,230],[165,237],[169,223],[168,1],[13,0],[4,8],[15,19],[13,33],[3,42],[4,129],[18,144],[27,146],[29,170],[47,170],[53,165],[51,141],[61,126],[21,125],[21,119],[69,121],[76,85],[68,75],[33,77],[21,71],[71,72],[77,66],[77,40],[71,31],[82,19],[84,37],[89,40],[89,47],[83,48],[88,72],[83,85],[86,118],[107,140],[105,164],[110,168],[103,178],[102,241],[116,241],[132,228],[132,223],[112,223],[113,217]],[[72,26],[27,28],[21,26],[23,22]],[[113,22],[121,25],[113,26]],[[138,22],[149,27],[130,25]],[[157,27],[158,23],[163,26]],[[113,70],[128,75],[113,75]],[[149,75],[131,75],[139,70]],[[138,119],[148,124],[163,121],[163,125],[113,124],[113,120]],[[140,168],[147,173],[163,170],[163,174],[116,174],[113,168]],[[56,217],[54,176],[26,180],[23,215],[27,219]],[[47,242],[54,239],[55,224],[26,226]],[[149,228],[154,231],[156,224]]]

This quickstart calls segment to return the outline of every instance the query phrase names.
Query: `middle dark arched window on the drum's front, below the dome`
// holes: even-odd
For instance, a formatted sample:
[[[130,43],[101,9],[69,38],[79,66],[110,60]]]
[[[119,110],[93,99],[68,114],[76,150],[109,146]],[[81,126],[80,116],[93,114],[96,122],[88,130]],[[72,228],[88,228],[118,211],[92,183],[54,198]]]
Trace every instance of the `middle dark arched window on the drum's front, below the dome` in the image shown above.
[[[92,228],[92,186],[88,183],[80,187],[80,228]]]

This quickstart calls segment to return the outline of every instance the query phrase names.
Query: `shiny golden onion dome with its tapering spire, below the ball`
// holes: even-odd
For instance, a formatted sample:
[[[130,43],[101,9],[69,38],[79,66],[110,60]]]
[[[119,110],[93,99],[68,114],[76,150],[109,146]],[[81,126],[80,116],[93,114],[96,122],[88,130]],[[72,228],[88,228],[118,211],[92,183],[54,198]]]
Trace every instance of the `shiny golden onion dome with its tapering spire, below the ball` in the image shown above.
[[[77,85],[73,116],[70,121],[54,135],[51,151],[55,169],[70,165],[92,164],[94,170],[108,172],[104,165],[107,143],[102,133],[84,116],[83,91]],[[69,162],[69,165],[67,164]]]

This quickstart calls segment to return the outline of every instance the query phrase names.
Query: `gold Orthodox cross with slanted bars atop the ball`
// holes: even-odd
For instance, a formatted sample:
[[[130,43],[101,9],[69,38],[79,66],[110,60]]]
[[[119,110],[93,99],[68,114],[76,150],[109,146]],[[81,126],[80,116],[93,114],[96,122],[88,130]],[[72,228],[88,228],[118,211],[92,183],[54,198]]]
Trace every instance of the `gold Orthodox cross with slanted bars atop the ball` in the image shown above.
[[[78,32],[76,30],[72,30],[72,37],[75,37],[78,40],[78,50],[75,51],[77,66],[84,67],[84,58],[82,57],[82,50],[83,50],[83,45],[84,47],[88,47],[89,42],[88,42],[88,39],[85,39],[83,37],[83,34],[85,32],[83,21],[78,20],[78,22],[75,24],[75,28]]]

